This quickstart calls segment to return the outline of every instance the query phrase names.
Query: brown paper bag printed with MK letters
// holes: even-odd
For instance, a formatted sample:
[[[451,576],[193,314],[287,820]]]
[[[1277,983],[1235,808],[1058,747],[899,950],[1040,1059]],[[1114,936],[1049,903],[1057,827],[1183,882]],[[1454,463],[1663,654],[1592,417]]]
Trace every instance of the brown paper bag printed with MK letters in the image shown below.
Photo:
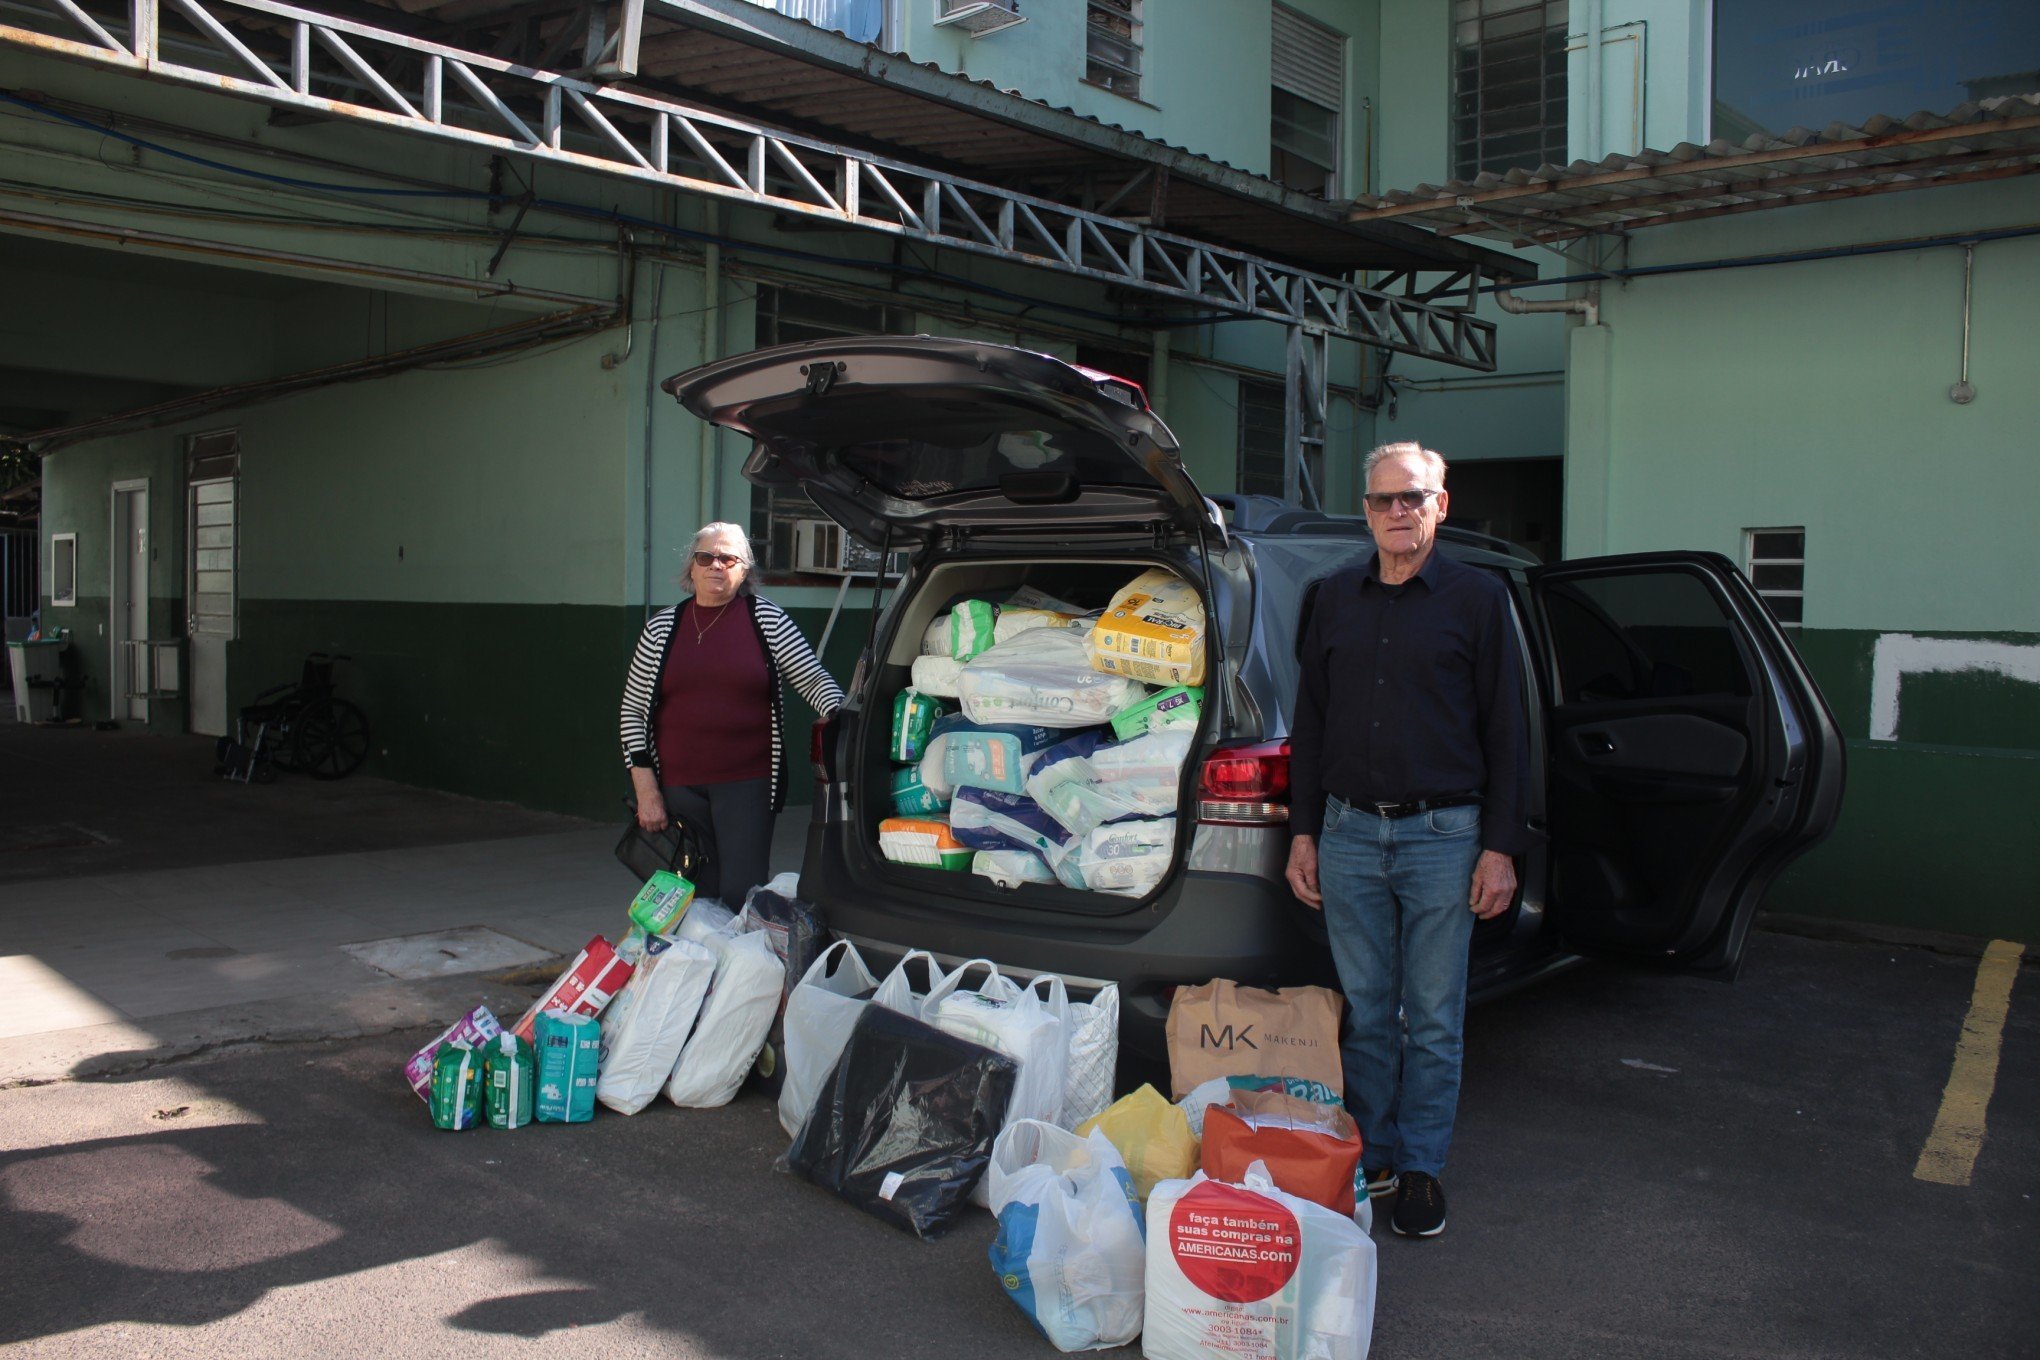
[[[1326,987],[1263,991],[1230,979],[1177,987],[1169,1001],[1169,1083],[1183,1097],[1212,1077],[1304,1077],[1344,1095],[1340,1005]]]

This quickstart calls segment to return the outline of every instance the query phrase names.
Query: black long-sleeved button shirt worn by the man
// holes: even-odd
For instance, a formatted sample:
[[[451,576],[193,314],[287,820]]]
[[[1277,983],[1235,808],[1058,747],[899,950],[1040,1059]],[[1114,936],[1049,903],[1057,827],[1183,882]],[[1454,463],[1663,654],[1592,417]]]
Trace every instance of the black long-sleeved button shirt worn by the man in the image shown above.
[[[1408,803],[1479,793],[1481,846],[1530,848],[1522,667],[1508,587],[1432,551],[1401,585],[1379,557],[1318,587],[1289,728],[1289,830],[1324,797]]]

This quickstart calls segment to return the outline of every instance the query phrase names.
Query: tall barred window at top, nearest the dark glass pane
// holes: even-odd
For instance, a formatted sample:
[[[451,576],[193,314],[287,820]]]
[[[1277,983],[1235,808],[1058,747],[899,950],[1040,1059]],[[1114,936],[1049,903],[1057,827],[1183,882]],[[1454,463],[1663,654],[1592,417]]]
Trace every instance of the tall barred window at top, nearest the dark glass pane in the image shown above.
[[[1567,0],[1455,0],[1452,177],[1565,161]]]

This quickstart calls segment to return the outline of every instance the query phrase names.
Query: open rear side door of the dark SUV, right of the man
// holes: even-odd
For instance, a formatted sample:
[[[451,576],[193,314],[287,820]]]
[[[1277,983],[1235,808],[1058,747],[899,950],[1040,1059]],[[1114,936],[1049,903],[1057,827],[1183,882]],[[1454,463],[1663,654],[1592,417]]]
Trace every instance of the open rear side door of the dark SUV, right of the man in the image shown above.
[[[1581,952],[1732,977],[1765,887],[1834,828],[1842,736],[1714,553],[1528,573],[1544,638],[1548,911]]]

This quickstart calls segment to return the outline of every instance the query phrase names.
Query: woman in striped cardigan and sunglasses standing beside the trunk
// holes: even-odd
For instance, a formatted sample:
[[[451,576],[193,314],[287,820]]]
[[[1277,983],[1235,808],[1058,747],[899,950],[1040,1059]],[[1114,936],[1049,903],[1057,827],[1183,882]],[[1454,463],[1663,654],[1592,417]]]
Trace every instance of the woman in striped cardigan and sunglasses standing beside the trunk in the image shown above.
[[[685,818],[708,832],[696,891],[732,907],[769,877],[773,814],[785,803],[779,681],[822,718],[843,705],[785,610],[751,585],[751,538],[704,524],[687,573],[692,599],[645,620],[624,677],[624,765],[639,826]]]

